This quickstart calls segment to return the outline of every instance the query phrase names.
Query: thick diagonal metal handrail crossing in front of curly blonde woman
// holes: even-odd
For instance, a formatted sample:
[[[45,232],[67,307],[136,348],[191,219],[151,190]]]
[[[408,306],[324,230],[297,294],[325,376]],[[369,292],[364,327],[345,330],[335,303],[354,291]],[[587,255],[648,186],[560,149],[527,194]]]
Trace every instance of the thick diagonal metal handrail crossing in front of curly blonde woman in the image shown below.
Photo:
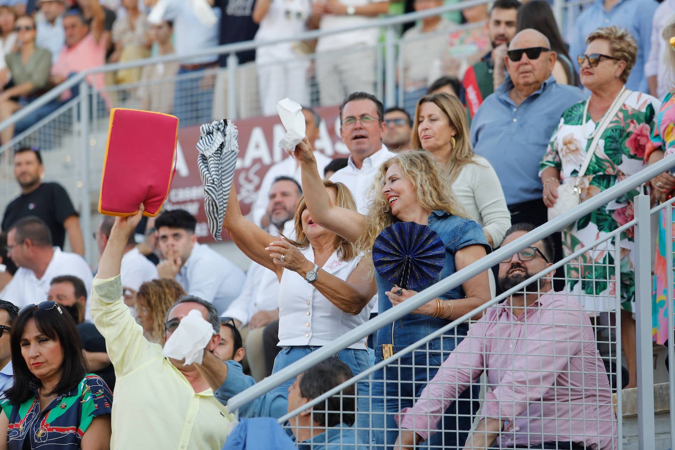
[[[346,333],[344,336],[335,339],[327,345],[323,345],[321,348],[313,351],[311,354],[298,360],[298,362],[292,364],[291,366],[279,370],[279,372],[273,376],[269,376],[263,381],[260,381],[245,391],[235,395],[229,399],[227,402],[227,407],[229,407],[229,410],[231,411],[238,410],[243,405],[250,403],[250,401],[253,401],[261,395],[264,395],[272,389],[279,387],[283,383],[286,383],[286,381],[294,378],[294,376],[297,376],[308,368],[315,366],[315,364],[318,364],[333,354],[338,353],[356,341],[363,339],[372,333],[375,333],[375,331],[385,327],[386,325],[389,325],[391,322],[398,320],[402,316],[409,314],[412,312],[412,310],[419,308],[423,304],[429,302],[429,300],[432,298],[438,297],[450,289],[454,289],[455,287],[461,285],[468,279],[471,279],[472,277],[489,270],[492,266],[499,264],[499,261],[503,260],[504,258],[507,258],[508,256],[519,252],[523,248],[530,246],[532,242],[542,240],[548,235],[551,235],[551,233],[555,233],[567,225],[570,225],[574,221],[577,221],[581,217],[590,214],[603,204],[607,204],[611,200],[626,194],[626,192],[636,188],[637,186],[642,186],[656,175],[659,175],[659,173],[664,173],[672,169],[672,167],[675,167],[675,158],[665,158],[658,163],[655,163],[639,171],[639,173],[631,175],[630,177],[624,179],[624,181],[621,181],[615,186],[612,186],[612,188],[607,189],[596,196],[593,196],[589,200],[581,203],[579,206],[576,206],[576,208],[563,215],[560,215],[559,217],[556,217],[556,219],[553,219],[552,221],[549,221],[540,227],[537,227],[537,229],[530,231],[526,235],[518,237],[518,239],[514,240],[510,244],[501,248],[497,248],[497,250],[491,252],[491,254],[484,256],[480,260],[466,266],[460,271],[457,271],[453,275],[450,275],[450,277],[439,281],[435,285],[427,287],[427,289],[417,293],[405,302],[402,302],[401,304],[390,308],[382,314],[379,314],[377,317],[369,320],[368,322],[365,322],[362,325],[359,325],[349,333]],[[487,306],[483,305],[479,308],[476,308],[475,311],[480,312],[485,309],[487,309]],[[466,314],[465,316],[468,318],[473,314],[475,313],[472,312],[470,314]],[[457,320],[454,322],[457,322]]]

